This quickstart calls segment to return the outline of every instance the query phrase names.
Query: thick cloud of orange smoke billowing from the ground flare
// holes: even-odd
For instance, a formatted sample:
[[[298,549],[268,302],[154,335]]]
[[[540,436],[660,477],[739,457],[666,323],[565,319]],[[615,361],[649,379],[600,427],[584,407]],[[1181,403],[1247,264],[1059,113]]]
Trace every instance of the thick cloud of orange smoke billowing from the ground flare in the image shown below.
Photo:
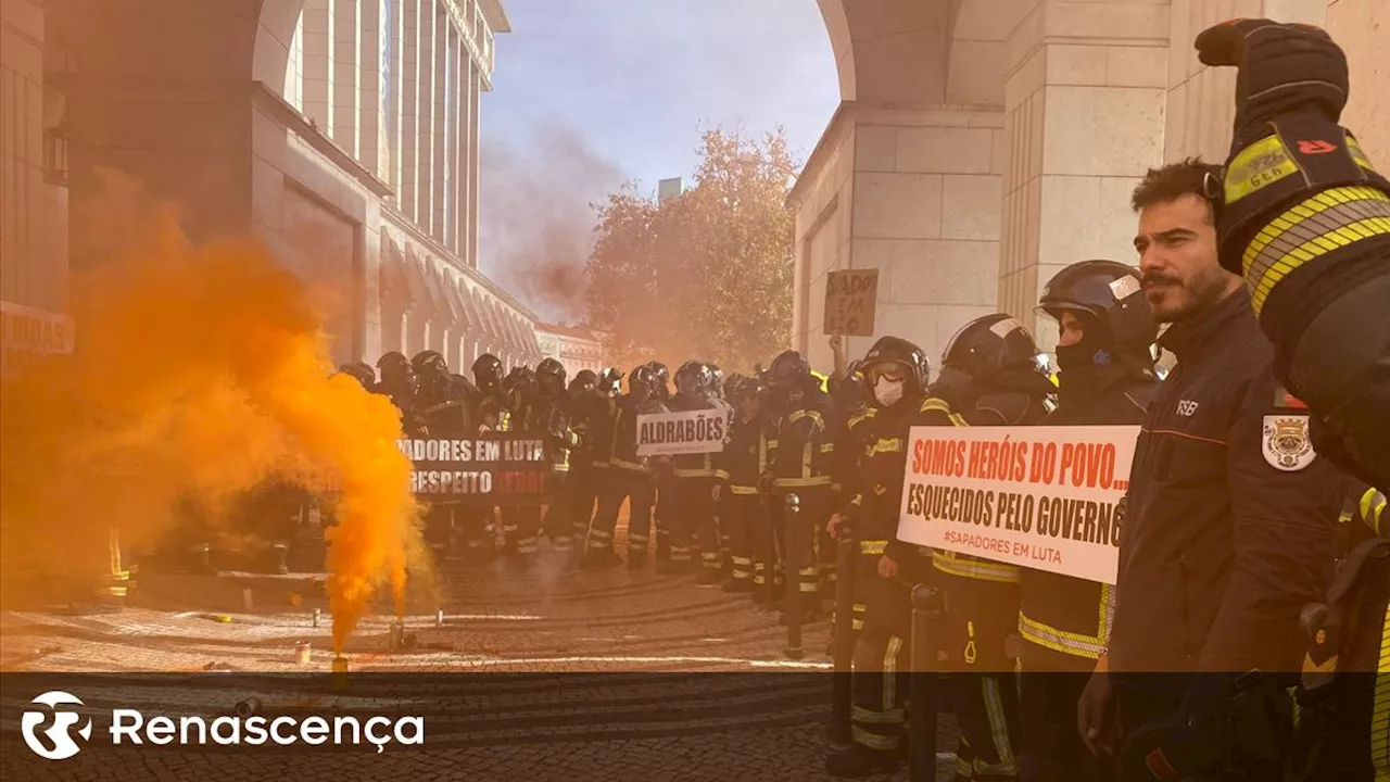
[[[384,580],[402,609],[418,550],[395,408],[331,376],[321,313],[260,244],[196,246],[167,212],[120,237],[113,263],[74,281],[76,351],[0,394],[6,569],[97,573],[110,527],[149,545],[188,498],[215,509],[272,474],[331,484],[341,650]]]

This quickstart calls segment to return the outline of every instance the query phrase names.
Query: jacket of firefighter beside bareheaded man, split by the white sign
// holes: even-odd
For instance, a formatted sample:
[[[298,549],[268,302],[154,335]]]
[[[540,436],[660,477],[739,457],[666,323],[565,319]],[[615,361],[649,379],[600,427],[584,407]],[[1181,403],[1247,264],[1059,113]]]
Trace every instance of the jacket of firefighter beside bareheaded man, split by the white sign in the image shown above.
[[[1044,426],[1138,426],[1158,378],[1119,365],[1062,373],[1058,409]],[[1099,526],[1101,545],[1119,545],[1119,525]],[[1112,532],[1113,530],[1113,532]],[[1111,584],[1024,568],[1019,636],[1024,671],[1091,671],[1109,643]]]

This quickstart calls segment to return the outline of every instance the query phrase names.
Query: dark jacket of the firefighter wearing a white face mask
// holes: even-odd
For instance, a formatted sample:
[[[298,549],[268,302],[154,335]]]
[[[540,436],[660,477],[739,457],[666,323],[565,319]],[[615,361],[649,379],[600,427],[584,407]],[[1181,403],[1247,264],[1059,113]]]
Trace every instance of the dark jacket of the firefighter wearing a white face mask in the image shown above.
[[[898,532],[908,436],[923,399],[917,394],[903,397],[891,408],[869,408],[856,427],[863,438],[858,459],[859,481],[841,515],[853,525],[860,554],[887,552],[888,541]],[[908,551],[917,552],[916,547]]]

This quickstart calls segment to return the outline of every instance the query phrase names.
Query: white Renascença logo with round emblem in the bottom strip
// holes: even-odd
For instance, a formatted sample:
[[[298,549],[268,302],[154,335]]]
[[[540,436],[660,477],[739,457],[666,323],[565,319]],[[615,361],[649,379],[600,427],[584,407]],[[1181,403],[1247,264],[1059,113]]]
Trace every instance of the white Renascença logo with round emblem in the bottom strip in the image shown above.
[[[35,751],[39,757],[49,760],[63,760],[78,754],[81,747],[72,740],[70,735],[70,728],[78,724],[79,714],[71,710],[58,710],[58,704],[76,704],[83,705],[71,693],[64,693],[61,690],[53,690],[43,693],[42,696],[33,699],[33,703],[47,705],[53,715],[54,724],[43,735],[49,737],[49,742],[54,744],[54,749],[46,747],[36,736],[39,725],[47,719],[47,711],[26,711],[24,712],[24,742],[29,744],[29,749]],[[111,744],[120,746],[122,743],[132,744],[172,744],[178,742],[181,746],[190,744],[207,744],[208,742],[222,746],[261,746],[265,743],[291,746],[296,743],[306,743],[311,746],[332,743],[336,746],[342,744],[361,744],[366,739],[367,744],[374,744],[377,753],[382,753],[386,744],[396,742],[400,744],[424,744],[425,743],[425,721],[423,717],[400,717],[391,719],[388,717],[368,717],[366,719],[359,719],[352,715],[336,715],[332,718],[325,717],[263,717],[259,714],[252,714],[249,717],[217,717],[211,721],[203,717],[152,717],[145,718],[138,710],[133,708],[115,708],[111,711]],[[78,735],[83,740],[92,737],[92,721],[88,719]]]

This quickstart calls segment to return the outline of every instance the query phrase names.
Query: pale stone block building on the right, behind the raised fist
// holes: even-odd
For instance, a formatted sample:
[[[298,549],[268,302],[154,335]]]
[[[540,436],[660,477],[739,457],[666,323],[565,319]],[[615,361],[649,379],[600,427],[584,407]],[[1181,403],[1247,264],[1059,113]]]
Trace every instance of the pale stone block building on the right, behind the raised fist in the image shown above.
[[[819,0],[841,104],[798,179],[792,346],[830,366],[826,274],[878,269],[874,334],[937,360],[966,321],[1034,316],[1079,260],[1136,263],[1144,171],[1230,143],[1234,71],[1193,38],[1232,17],[1325,25],[1346,49],[1343,122],[1390,166],[1383,0]],[[862,355],[876,337],[849,338]]]

